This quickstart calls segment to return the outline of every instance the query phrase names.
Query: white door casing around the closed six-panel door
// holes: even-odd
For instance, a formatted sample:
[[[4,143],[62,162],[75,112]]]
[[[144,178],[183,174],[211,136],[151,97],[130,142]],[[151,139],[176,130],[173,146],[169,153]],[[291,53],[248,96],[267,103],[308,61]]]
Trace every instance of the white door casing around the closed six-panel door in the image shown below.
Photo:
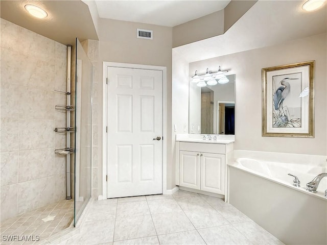
[[[102,65],[102,195],[107,199],[107,67],[134,68],[162,71],[162,194],[167,194],[167,67],[155,65],[116,63],[103,61]]]

